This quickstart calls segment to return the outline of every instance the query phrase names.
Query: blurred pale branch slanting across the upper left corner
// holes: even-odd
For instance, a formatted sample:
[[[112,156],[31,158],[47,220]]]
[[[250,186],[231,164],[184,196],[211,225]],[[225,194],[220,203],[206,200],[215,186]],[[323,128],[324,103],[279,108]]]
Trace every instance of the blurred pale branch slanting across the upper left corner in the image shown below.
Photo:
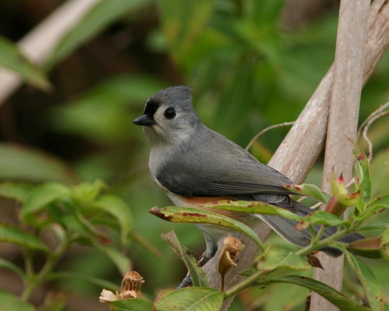
[[[101,0],[68,0],[45,18],[18,47],[35,64],[41,64],[56,48],[58,41],[73,27],[91,7]],[[0,105],[12,95],[22,81],[10,70],[0,69]]]

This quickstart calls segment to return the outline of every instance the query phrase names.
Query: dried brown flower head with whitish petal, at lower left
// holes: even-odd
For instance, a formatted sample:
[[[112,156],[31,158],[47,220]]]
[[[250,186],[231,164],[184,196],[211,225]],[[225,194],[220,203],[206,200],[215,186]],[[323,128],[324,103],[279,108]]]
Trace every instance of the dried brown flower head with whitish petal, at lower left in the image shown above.
[[[120,293],[113,294],[111,291],[103,289],[99,300],[100,302],[111,302],[119,299],[140,298],[143,283],[143,277],[138,272],[131,271],[124,275]]]

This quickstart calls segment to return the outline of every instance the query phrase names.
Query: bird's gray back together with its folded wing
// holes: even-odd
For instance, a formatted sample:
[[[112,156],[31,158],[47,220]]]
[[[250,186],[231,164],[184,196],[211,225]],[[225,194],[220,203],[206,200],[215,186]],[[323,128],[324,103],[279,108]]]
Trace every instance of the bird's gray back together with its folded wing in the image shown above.
[[[288,193],[290,180],[205,125],[185,142],[152,148],[150,172],[168,190],[185,196]]]

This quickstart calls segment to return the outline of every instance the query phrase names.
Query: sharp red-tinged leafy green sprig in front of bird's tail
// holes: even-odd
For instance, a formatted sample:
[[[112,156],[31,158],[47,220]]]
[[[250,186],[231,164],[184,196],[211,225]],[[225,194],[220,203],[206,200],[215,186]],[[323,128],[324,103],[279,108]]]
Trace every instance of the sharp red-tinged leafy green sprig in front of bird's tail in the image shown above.
[[[220,216],[207,210],[228,210],[233,212],[243,212],[243,213],[259,213],[259,214],[270,214],[270,215],[281,215],[283,217],[298,220],[300,221],[296,225],[297,230],[309,229],[312,233],[311,243],[306,247],[301,248],[298,251],[290,251],[283,247],[276,245],[269,245],[266,249],[262,249],[262,254],[260,254],[253,262],[255,269],[249,269],[244,272],[244,275],[247,276],[245,280],[238,283],[233,288],[224,292],[224,298],[229,298],[233,294],[239,293],[241,290],[253,285],[262,285],[262,284],[272,284],[272,283],[292,283],[308,288],[312,291],[317,292],[322,295],[333,304],[338,306],[342,310],[372,310],[372,311],[382,311],[382,294],[381,287],[375,278],[374,274],[371,272],[370,268],[363,263],[360,259],[355,257],[350,251],[355,254],[369,257],[369,258],[379,258],[379,259],[388,259],[387,247],[389,243],[389,228],[387,222],[378,223],[377,225],[371,224],[368,229],[372,228],[386,228],[384,233],[377,238],[363,239],[350,244],[341,243],[338,239],[344,237],[345,235],[358,231],[359,225],[363,221],[370,218],[379,208],[388,208],[389,201],[388,195],[375,198],[368,202],[370,199],[370,175],[369,175],[369,164],[364,162],[366,155],[363,151],[354,144],[354,158],[356,163],[359,163],[358,169],[358,192],[354,194],[348,194],[346,186],[344,184],[343,178],[335,178],[334,173],[331,176],[331,186],[332,186],[332,196],[330,197],[327,194],[322,193],[318,187],[314,185],[303,184],[300,186],[290,186],[287,187],[289,190],[298,192],[299,194],[308,195],[311,194],[313,197],[319,201],[326,202],[328,198],[326,211],[318,210],[312,211],[304,218],[297,216],[291,212],[288,212],[282,208],[274,207],[269,204],[262,202],[247,202],[247,201],[220,201],[212,204],[205,204],[201,209],[189,208],[189,207],[165,207],[158,209],[154,207],[151,212],[168,221],[173,222],[189,222],[189,223],[208,223],[215,225],[222,225],[230,229],[245,233],[252,239],[252,233],[249,230],[246,230],[244,226],[234,223],[231,225],[231,220],[229,217]],[[359,161],[359,162],[358,162]],[[362,172],[362,173],[361,173]],[[368,179],[368,180],[367,180]],[[361,193],[361,196],[359,196]],[[364,194],[363,194],[364,193]],[[360,197],[364,197],[362,201]],[[331,202],[336,200],[340,202],[342,208],[329,208],[331,207]],[[359,207],[358,207],[359,205]],[[343,211],[352,206],[357,206],[355,208],[354,219],[344,220],[339,218]],[[334,206],[332,206],[334,207]],[[340,212],[341,210],[341,212]],[[218,216],[216,216],[218,215]],[[314,226],[317,227],[320,225],[319,230],[315,230]],[[337,226],[338,231],[329,237],[322,237],[323,232],[327,226]],[[363,229],[363,227],[362,227]],[[365,228],[366,229],[366,228]],[[182,256],[182,246],[179,245],[179,242],[174,233],[169,234],[169,245],[175,249],[177,253],[180,254],[181,259],[184,262],[187,262],[187,259]],[[166,239],[166,238],[165,238]],[[254,239],[253,239],[254,240]],[[226,241],[225,241],[226,243]],[[314,279],[305,276],[282,276],[275,277],[270,275],[270,273],[280,270],[309,270],[311,265],[321,266],[318,259],[313,261],[312,257],[308,257],[308,262],[304,260],[305,256],[310,254],[312,251],[320,249],[323,246],[331,246],[340,248],[345,254],[347,261],[349,262],[351,268],[354,270],[356,276],[358,277],[359,282],[362,284],[364,289],[365,296],[369,301],[369,306],[371,309],[368,309],[359,303],[354,302],[350,298],[344,296],[343,294],[337,292],[335,289],[322,284]],[[186,251],[186,249],[184,249]],[[311,264],[311,265],[310,265]],[[188,266],[188,264],[186,263]],[[188,266],[188,270],[191,272],[191,267]],[[202,270],[201,270],[202,271]],[[191,272],[191,275],[193,271]],[[196,279],[196,278],[195,278]],[[196,281],[197,282],[197,281]],[[223,284],[222,284],[223,289]],[[184,294],[180,294],[180,291],[173,292],[175,296],[179,298],[184,297]],[[183,293],[183,292],[182,292]],[[182,296],[182,297],[181,297]],[[162,298],[163,299],[163,298]],[[184,309],[183,309],[184,310]]]

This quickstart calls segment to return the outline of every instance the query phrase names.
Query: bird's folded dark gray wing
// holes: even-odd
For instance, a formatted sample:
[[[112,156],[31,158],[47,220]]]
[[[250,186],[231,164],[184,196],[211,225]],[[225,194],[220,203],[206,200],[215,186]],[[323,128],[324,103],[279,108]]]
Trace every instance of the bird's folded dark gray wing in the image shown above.
[[[165,164],[157,179],[166,189],[184,196],[220,196],[252,193],[291,194],[283,185],[292,182],[283,174],[248,154],[209,158],[186,155],[187,162]],[[200,157],[200,158],[204,158]]]

